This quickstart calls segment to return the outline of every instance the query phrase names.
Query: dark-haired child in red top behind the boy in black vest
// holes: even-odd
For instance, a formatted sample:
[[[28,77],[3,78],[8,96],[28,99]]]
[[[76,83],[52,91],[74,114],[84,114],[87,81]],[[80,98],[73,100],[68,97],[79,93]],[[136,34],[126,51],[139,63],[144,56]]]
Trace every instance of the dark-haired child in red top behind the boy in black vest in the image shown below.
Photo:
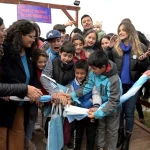
[[[72,38],[72,43],[75,45],[76,48],[75,56],[73,58],[74,63],[76,63],[80,59],[87,60],[87,58],[85,57],[85,52],[83,50],[84,39],[82,35],[76,33]]]

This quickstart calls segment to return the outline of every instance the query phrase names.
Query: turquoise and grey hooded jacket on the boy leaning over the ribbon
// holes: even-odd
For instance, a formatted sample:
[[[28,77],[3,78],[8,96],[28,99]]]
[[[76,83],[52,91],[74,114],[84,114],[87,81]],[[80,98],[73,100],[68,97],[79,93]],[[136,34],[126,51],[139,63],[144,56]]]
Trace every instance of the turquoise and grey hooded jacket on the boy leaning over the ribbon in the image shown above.
[[[79,97],[86,95],[92,91],[94,86],[96,86],[101,95],[102,103],[108,101],[102,111],[105,113],[110,113],[116,109],[120,103],[122,86],[118,76],[116,64],[112,61],[109,61],[109,64],[111,66],[110,71],[99,76],[91,71],[85,84],[83,84],[77,91],[71,93],[72,99],[76,100]]]

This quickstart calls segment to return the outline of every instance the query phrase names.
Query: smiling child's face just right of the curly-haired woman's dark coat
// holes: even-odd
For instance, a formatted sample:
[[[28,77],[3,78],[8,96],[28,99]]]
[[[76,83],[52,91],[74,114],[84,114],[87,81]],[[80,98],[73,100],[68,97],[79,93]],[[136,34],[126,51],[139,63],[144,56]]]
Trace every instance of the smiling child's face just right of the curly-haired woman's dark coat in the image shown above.
[[[44,67],[46,66],[47,58],[44,56],[39,56],[36,66],[38,69],[43,70]]]

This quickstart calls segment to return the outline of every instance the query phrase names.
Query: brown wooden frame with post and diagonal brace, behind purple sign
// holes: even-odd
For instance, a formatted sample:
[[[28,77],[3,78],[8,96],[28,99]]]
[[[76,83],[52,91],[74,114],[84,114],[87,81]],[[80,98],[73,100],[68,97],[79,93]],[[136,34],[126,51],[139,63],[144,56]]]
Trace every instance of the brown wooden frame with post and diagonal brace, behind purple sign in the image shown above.
[[[42,1],[42,0],[41,0]],[[59,4],[50,4],[50,3],[43,3],[43,2],[35,2],[35,1],[25,1],[25,0],[0,0],[0,3],[7,3],[7,4],[26,4],[26,5],[34,5],[34,6],[42,6],[54,9],[61,9],[64,14],[70,19],[73,20],[75,23],[74,25],[78,27],[78,13],[80,7],[78,6],[70,6],[70,5],[59,5]],[[67,10],[75,11],[75,19],[69,14]]]

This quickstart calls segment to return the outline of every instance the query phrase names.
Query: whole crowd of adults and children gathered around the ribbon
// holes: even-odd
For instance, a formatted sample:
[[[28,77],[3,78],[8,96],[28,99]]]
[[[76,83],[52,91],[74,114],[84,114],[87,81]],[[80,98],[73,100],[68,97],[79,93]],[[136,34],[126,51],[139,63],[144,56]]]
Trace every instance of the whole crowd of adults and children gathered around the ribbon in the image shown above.
[[[129,150],[135,107],[144,122],[137,103],[142,89],[121,107],[118,104],[143,73],[150,75],[149,41],[128,18],[120,21],[117,34],[106,34],[101,22],[83,15],[83,31],[74,28],[68,36],[66,27],[72,24],[57,24],[42,38],[35,22],[22,19],[5,29],[0,18],[0,150],[37,150],[32,136],[38,108],[43,114],[58,99],[63,106],[71,103],[89,109],[88,117],[73,123],[64,116],[65,148],[80,150],[86,129],[87,150],[95,146],[97,150]],[[68,93],[54,88],[47,77],[68,87]],[[144,87],[148,99],[148,82]],[[48,94],[52,101],[40,103],[40,97]],[[23,101],[25,96],[30,100]],[[108,115],[100,118],[102,113]],[[42,118],[45,143],[50,119]]]

